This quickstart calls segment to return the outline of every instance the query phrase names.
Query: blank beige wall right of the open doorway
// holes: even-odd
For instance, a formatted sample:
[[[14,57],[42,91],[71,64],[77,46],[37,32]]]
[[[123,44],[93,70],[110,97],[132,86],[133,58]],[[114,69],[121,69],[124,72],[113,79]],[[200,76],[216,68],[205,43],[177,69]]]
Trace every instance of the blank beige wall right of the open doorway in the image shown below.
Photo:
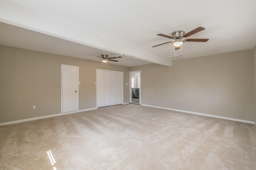
[[[255,121],[254,51],[131,67],[142,104]]]

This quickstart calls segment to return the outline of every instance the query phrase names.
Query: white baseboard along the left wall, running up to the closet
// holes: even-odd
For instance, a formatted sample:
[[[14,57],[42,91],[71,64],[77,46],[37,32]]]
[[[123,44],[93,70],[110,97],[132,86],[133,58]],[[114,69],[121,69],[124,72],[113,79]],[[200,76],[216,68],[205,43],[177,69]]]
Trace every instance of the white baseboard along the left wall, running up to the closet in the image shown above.
[[[22,120],[16,120],[16,121],[8,121],[8,122],[0,123],[0,126],[3,126],[3,125],[10,125],[10,124],[14,124],[14,123],[22,123],[22,122],[25,122],[25,121],[32,121],[32,120],[38,120],[38,119],[45,119],[45,118],[55,117],[55,116],[61,116],[61,115],[68,115],[68,114],[72,114],[72,113],[78,113],[78,112],[88,111],[88,110],[94,110],[94,109],[97,109],[97,107],[90,108],[90,109],[84,109],[84,110],[78,110],[78,111],[72,111],[72,112],[62,113],[62,114],[61,114],[61,113],[58,113],[58,114],[54,114],[54,115],[33,117],[33,118],[29,118],[29,119],[22,119]]]

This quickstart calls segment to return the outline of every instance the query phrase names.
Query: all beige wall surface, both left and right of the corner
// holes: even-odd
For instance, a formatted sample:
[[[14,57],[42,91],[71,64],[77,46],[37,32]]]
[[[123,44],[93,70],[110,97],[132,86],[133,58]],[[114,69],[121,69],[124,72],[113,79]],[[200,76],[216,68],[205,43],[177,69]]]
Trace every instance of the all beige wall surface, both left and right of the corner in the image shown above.
[[[108,70],[141,70],[142,104],[256,121],[256,49]],[[61,64],[79,66],[79,110],[96,107],[96,69],[101,63],[0,46],[0,123],[60,113]],[[36,105],[36,109],[32,106]]]

